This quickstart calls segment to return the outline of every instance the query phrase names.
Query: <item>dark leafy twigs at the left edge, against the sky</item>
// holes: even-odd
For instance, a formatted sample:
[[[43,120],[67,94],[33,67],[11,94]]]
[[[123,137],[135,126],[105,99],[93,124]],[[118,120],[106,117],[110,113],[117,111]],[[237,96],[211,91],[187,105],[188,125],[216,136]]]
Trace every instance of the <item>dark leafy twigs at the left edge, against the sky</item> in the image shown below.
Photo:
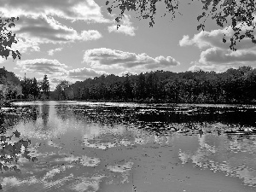
[[[20,59],[20,52],[11,48],[12,44],[17,44],[15,33],[10,30],[15,27],[15,20],[19,20],[19,17],[11,17],[5,20],[0,17],[0,56],[5,57],[5,59],[10,54],[14,60],[17,57]]]

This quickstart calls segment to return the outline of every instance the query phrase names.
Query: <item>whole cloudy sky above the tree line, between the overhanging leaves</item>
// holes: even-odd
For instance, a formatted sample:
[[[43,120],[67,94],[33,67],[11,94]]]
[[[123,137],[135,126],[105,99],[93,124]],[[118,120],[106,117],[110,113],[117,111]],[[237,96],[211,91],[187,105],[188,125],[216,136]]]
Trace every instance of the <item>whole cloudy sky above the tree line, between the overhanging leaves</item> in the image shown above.
[[[20,77],[43,79],[52,86],[62,79],[75,82],[104,73],[122,75],[155,70],[184,72],[203,69],[222,72],[230,67],[256,64],[256,50],[250,41],[232,52],[222,42],[223,34],[212,20],[206,31],[196,30],[201,3],[182,1],[180,15],[171,22],[159,6],[154,27],[127,12],[116,29],[104,0],[0,0],[2,17],[19,16],[13,30],[19,39],[21,60],[0,57]]]

